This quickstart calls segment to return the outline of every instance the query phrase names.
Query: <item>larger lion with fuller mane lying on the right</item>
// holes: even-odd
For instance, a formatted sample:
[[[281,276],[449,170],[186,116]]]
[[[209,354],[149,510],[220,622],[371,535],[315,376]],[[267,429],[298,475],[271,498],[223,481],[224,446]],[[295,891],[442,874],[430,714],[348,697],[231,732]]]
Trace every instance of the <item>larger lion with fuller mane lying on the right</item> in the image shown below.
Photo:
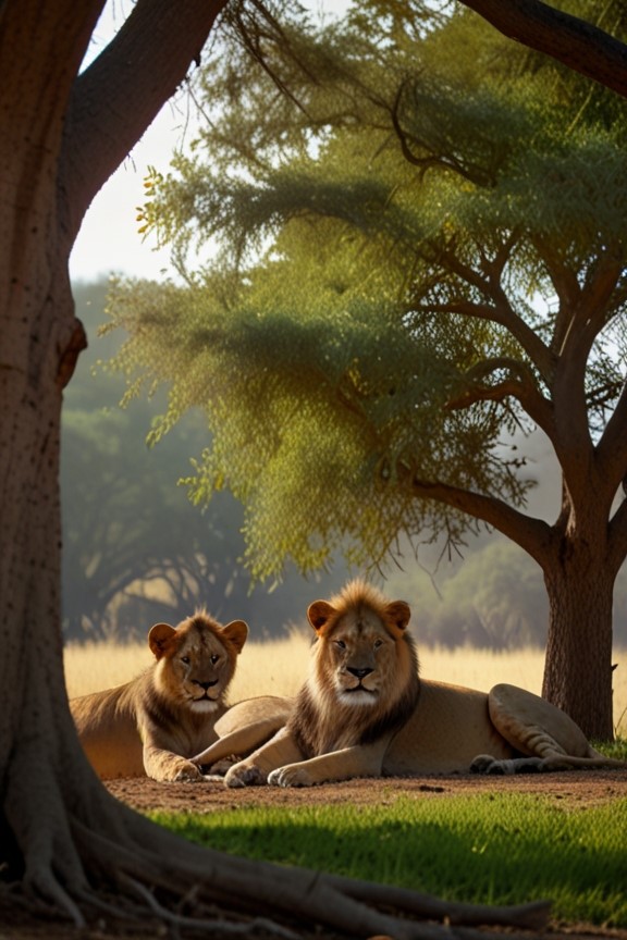
[[[627,767],[601,755],[564,712],[524,689],[499,684],[485,693],[419,678],[409,606],[388,602],[361,580],[330,602],[314,602],[307,618],[316,633],[308,679],[293,705],[283,701],[287,719],[280,730],[228,769],[228,787]],[[250,743],[255,704],[239,703],[226,718],[224,741],[195,763],[217,760],[225,746],[242,754],[243,731]]]

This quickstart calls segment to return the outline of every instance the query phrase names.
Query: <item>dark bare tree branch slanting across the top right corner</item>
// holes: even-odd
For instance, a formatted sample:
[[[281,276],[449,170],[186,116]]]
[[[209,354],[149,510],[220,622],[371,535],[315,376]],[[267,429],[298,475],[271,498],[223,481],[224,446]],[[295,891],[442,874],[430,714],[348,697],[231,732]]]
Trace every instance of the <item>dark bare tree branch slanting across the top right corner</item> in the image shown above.
[[[627,97],[627,46],[592,23],[540,0],[460,0],[530,49],[544,52],[588,78]]]

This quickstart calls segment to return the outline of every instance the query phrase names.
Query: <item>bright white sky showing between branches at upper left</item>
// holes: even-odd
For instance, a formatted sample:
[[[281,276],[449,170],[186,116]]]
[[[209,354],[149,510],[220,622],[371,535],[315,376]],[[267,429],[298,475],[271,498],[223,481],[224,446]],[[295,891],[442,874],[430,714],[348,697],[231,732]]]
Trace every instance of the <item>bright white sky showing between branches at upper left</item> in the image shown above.
[[[341,13],[347,0],[312,0],[331,15]],[[128,15],[132,0],[109,0],[94,32],[86,62],[94,58]],[[168,268],[169,250],[155,250],[155,240],[143,240],[137,230],[137,207],[144,202],[144,177],[149,166],[165,172],[172,153],[189,137],[184,96],[168,102],[128,158],[98,193],[74,245],[70,274],[74,281],[95,281],[111,273],[160,277]]]

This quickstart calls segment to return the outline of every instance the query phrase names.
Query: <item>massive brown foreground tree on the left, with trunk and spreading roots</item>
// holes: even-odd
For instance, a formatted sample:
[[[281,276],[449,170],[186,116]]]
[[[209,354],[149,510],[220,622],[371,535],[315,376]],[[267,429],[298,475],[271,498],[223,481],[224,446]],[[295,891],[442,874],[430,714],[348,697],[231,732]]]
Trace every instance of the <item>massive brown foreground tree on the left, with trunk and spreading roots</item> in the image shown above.
[[[108,793],[76,738],[62,665],[59,437],[63,388],[85,336],[67,260],[91,198],[185,79],[222,4],[137,0],[79,74],[102,5],[0,7],[2,924],[16,907],[76,925],[130,912],[136,926],[150,912],[177,931],[195,915],[196,931],[211,936],[258,927],[285,937],[263,918],[271,913],[420,936],[419,926],[366,906],[381,900],[416,913],[411,892],[302,869],[278,874],[171,836]],[[231,908],[223,919],[220,902]],[[243,911],[253,926],[241,926]]]

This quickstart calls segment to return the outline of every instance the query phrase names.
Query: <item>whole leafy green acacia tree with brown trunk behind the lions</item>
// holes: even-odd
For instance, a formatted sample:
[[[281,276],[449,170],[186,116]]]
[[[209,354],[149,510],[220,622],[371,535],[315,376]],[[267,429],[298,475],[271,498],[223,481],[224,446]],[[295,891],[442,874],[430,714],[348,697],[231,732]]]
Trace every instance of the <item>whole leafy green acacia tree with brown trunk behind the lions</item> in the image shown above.
[[[382,562],[399,533],[455,543],[477,521],[515,541],[549,594],[543,694],[608,739],[625,104],[466,11],[426,11],[430,30],[406,4],[380,12],[360,5],[323,41],[270,18],[250,38],[235,12],[262,69],[251,84],[242,47],[221,58],[220,111],[207,99],[190,156],[152,180],[146,224],[188,283],[119,292],[119,362],[172,383],[157,435],[206,405],[192,495],[245,503],[259,577],[339,546]],[[208,237],[219,270],[189,273]],[[562,468],[553,524],[522,511],[524,452],[502,446],[520,425]]]

